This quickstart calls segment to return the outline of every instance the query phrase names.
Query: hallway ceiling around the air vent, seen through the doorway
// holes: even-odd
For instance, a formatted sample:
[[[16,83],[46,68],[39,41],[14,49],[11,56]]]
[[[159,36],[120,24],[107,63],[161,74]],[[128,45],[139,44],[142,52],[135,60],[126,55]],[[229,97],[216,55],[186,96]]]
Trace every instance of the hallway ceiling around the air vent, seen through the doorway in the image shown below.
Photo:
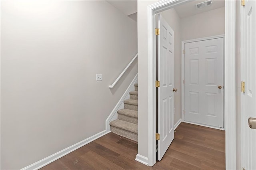
[[[187,16],[192,16],[192,15],[199,14],[202,12],[215,10],[217,8],[221,8],[221,7],[225,6],[224,0],[212,0],[211,5],[205,6],[205,7],[199,8],[199,9],[196,8],[196,4],[198,4],[200,2],[205,2],[205,1],[206,0],[195,0],[195,1],[187,2],[180,6],[174,7],[174,9],[176,10],[176,12],[180,16],[180,18],[184,18]]]

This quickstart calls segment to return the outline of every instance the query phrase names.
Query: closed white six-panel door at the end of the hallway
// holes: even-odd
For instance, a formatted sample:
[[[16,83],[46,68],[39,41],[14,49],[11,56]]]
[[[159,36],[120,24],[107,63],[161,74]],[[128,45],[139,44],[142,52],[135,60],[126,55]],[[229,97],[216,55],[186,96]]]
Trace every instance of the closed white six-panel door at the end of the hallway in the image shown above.
[[[184,49],[184,121],[223,128],[223,38]]]

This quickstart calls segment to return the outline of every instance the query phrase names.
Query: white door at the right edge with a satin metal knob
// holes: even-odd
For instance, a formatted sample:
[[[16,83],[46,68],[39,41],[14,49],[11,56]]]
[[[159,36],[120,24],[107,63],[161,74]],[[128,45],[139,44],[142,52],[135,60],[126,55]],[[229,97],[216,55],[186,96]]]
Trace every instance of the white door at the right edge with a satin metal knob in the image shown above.
[[[241,81],[245,83],[241,95],[241,165],[246,170],[255,170],[256,129],[249,127],[248,119],[256,118],[256,1],[246,0],[241,8]]]

